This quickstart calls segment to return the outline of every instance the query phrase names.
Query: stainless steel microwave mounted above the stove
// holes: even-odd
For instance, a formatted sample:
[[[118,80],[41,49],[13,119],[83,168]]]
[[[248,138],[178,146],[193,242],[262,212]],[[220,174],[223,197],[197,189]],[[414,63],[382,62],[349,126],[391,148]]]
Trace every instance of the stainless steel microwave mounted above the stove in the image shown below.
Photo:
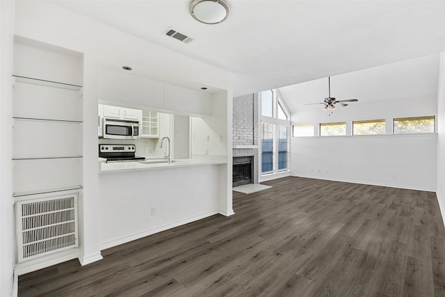
[[[139,122],[104,119],[104,138],[136,139],[139,138]]]

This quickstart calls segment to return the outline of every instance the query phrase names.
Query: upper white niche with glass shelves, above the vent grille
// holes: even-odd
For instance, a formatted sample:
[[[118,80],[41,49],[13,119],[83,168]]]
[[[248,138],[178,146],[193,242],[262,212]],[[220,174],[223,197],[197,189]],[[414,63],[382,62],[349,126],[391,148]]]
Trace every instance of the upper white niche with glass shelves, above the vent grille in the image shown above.
[[[13,75],[13,196],[33,199],[33,195],[79,190],[83,88],[57,78],[60,74],[60,80],[79,81],[81,59],[19,44],[16,52],[26,57],[26,63],[16,58],[17,75]],[[41,60],[52,67],[42,67]],[[38,76],[40,70],[44,79],[29,75]]]

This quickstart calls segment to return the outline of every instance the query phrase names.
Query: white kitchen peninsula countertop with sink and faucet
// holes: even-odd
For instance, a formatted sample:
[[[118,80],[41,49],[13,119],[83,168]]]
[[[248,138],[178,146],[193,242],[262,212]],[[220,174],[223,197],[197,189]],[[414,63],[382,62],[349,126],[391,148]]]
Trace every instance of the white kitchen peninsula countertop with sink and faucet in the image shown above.
[[[204,165],[218,165],[227,163],[226,156],[209,156],[208,158],[197,159],[175,159],[171,163],[142,163],[134,162],[120,162],[120,163],[106,163],[106,159],[99,158],[99,172],[123,172],[134,170],[159,170],[168,168],[204,166]]]

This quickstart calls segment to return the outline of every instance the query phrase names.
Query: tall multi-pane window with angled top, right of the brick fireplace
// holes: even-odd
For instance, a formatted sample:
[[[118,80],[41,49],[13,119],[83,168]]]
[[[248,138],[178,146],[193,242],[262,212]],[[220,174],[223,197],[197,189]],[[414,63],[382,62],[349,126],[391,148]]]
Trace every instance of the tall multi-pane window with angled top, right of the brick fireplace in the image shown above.
[[[289,112],[275,90],[261,92],[261,173],[289,168]]]

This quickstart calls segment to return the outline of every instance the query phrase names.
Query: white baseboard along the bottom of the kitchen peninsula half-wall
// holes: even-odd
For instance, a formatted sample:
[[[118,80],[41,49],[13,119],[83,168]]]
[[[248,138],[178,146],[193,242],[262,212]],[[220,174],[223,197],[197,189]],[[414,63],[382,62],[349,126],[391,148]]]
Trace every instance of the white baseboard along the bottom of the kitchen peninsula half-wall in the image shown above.
[[[200,214],[198,216],[193,216],[191,218],[186,218],[184,220],[179,220],[179,221],[177,221],[175,223],[170,223],[170,224],[162,225],[162,226],[159,226],[159,227],[156,227],[156,228],[153,228],[153,229],[145,230],[143,232],[138,232],[138,233],[135,233],[135,234],[131,234],[129,236],[122,237],[120,239],[115,239],[113,241],[108,241],[106,243],[102,243],[101,245],[99,245],[99,249],[100,250],[106,250],[107,248],[113,248],[113,246],[120,246],[121,244],[130,242],[130,241],[133,241],[133,240],[136,240],[136,239],[141,239],[141,238],[143,238],[145,236],[149,236],[149,235],[152,235],[152,234],[155,234],[155,233],[159,233],[159,232],[162,232],[162,231],[165,231],[165,230],[169,230],[169,229],[172,229],[174,227],[178,227],[178,226],[181,226],[181,225],[186,225],[188,223],[194,222],[195,220],[201,220],[202,218],[207,218],[207,217],[213,216],[215,214],[219,214],[219,211],[209,211],[209,212],[207,212],[205,214]]]

